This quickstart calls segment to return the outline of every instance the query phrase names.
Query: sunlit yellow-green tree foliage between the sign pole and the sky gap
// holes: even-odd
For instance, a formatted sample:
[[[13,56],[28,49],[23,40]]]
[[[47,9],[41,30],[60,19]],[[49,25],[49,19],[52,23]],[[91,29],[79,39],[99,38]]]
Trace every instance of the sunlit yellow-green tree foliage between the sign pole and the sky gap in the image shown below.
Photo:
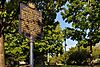
[[[46,33],[44,34],[42,40],[35,41],[34,51],[36,51],[36,55],[39,56],[39,54],[41,54],[43,56],[43,55],[47,55],[48,53],[50,53],[51,55],[53,54],[58,55],[59,53],[62,54],[63,53],[63,46],[62,46],[63,33],[61,31],[60,25],[57,24],[56,27],[52,25],[50,29],[48,30],[45,29],[45,32]]]

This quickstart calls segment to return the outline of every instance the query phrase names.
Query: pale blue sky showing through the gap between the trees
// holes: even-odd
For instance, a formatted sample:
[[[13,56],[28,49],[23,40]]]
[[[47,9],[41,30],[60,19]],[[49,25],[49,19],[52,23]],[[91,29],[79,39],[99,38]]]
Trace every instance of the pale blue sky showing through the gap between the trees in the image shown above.
[[[72,27],[71,24],[65,23],[65,21],[62,19],[62,16],[60,14],[60,12],[57,13],[57,17],[55,19],[55,21],[59,21],[60,22],[60,26],[62,29],[64,29],[65,27]],[[77,41],[73,41],[71,39],[67,39],[67,50],[71,47],[74,47],[77,44]],[[64,45],[64,43],[63,43]]]

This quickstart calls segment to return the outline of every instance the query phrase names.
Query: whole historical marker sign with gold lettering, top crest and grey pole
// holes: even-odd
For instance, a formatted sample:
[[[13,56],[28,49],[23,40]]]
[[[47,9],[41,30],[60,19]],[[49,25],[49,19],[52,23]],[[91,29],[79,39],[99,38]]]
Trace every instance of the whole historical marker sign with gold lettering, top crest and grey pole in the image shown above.
[[[19,32],[30,39],[30,67],[34,67],[33,41],[42,33],[42,13],[31,2],[20,3]]]

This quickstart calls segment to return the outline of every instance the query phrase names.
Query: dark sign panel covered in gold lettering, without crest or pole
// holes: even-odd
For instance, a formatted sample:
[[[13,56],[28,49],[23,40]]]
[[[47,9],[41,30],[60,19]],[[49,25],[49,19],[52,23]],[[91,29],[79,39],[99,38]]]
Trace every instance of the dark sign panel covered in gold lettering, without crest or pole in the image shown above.
[[[42,14],[36,9],[20,4],[21,32],[37,37],[42,31]]]

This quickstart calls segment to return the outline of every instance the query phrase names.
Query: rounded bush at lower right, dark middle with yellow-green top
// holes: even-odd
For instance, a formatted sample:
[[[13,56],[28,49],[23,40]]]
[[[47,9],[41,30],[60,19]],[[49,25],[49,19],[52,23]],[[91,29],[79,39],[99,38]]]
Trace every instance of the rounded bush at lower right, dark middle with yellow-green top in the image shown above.
[[[90,57],[87,49],[83,47],[72,47],[69,51],[66,52],[66,62],[67,64],[86,64]]]

